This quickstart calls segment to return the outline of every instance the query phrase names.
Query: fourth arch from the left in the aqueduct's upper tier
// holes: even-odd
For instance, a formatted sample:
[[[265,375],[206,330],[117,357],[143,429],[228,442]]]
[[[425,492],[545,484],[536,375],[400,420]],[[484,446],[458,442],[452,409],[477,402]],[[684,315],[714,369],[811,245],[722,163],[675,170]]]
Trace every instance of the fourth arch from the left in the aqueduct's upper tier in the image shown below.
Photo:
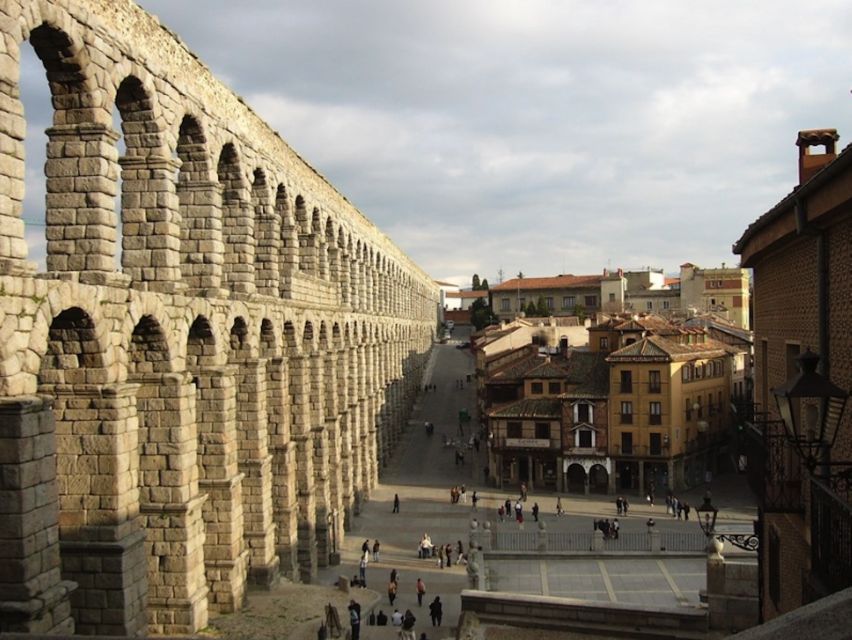
[[[224,282],[236,293],[254,293],[254,216],[251,195],[233,143],[222,146],[216,172],[222,186]]]

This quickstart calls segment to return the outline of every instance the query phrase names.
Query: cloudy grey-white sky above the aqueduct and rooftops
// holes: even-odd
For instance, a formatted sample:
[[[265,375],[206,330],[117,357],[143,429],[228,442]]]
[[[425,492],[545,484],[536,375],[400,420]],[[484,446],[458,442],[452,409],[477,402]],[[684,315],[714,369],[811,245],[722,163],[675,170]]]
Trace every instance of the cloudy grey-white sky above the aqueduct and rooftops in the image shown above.
[[[848,0],[140,4],[463,285],[733,264],[797,180],[796,132],[852,139]]]

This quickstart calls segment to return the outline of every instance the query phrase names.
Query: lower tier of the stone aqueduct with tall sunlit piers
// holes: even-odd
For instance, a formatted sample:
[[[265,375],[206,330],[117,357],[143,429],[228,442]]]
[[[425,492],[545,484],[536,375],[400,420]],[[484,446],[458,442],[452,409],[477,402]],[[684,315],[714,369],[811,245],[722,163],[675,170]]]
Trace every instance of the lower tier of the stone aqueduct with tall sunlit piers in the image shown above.
[[[0,277],[0,630],[194,632],[333,561],[434,324]]]

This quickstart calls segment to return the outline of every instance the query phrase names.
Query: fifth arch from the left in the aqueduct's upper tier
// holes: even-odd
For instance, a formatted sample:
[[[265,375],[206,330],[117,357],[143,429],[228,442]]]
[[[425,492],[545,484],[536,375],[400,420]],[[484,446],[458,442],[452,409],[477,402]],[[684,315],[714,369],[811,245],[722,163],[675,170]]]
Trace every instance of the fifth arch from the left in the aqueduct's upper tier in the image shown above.
[[[281,214],[272,199],[263,169],[254,170],[251,196],[257,231],[257,290],[263,295],[277,297],[281,267]]]

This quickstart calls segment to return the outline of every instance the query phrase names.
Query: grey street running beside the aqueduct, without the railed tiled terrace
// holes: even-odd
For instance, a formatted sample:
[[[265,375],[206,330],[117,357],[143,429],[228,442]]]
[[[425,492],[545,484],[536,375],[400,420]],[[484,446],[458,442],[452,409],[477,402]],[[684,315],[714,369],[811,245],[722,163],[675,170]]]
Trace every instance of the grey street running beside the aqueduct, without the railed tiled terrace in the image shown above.
[[[418,618],[418,635],[428,630],[431,624],[428,615],[428,602],[436,595],[441,596],[444,609],[444,626],[454,626],[460,614],[459,594],[468,588],[467,572],[464,565],[453,564],[451,568],[441,569],[434,560],[421,560],[417,557],[417,545],[424,533],[428,533],[435,545],[451,543],[453,549],[459,540],[465,550],[468,545],[470,519],[476,517],[480,522],[490,520],[499,531],[518,530],[513,522],[499,524],[497,507],[506,498],[517,498],[515,488],[498,490],[483,482],[482,469],[487,464],[485,446],[477,453],[474,449],[465,450],[465,461],[455,463],[455,449],[444,446],[443,437],[459,438],[458,412],[467,409],[472,414],[471,425],[478,425],[475,415],[475,385],[466,381],[473,376],[474,361],[466,349],[457,349],[454,343],[467,340],[464,328],[457,328],[454,340],[449,344],[436,344],[427,366],[424,384],[435,385],[435,391],[423,392],[418,400],[409,424],[405,426],[387,467],[383,470],[380,483],[374,490],[369,502],[364,503],[361,513],[353,518],[352,530],[347,533],[341,549],[341,565],[322,570],[318,582],[331,584],[340,576],[351,578],[358,573],[358,561],[364,540],[381,542],[381,558],[378,563],[370,562],[367,568],[367,587],[379,594],[376,611],[382,609],[390,614],[394,608],[405,611],[411,608]],[[458,381],[465,380],[464,388],[458,388]],[[435,425],[433,435],[426,433],[424,422]],[[464,439],[471,432],[465,430]],[[467,503],[451,504],[449,490],[454,485],[465,484]],[[754,499],[750,495],[743,476],[725,475],[714,479],[713,500],[721,509],[720,520],[746,526],[754,517]],[[477,511],[472,510],[470,496],[473,490],[480,498]],[[682,497],[694,506],[701,504],[705,487],[697,487]],[[400,498],[400,513],[393,511],[394,495]],[[599,518],[616,516],[615,496],[576,496],[562,495],[563,507],[567,515],[556,518],[555,493],[531,492],[525,504],[526,529],[534,530],[535,523],[530,516],[534,502],[541,509],[540,517],[546,521],[551,531],[592,530],[592,523]],[[631,511],[628,517],[621,517],[622,532],[646,530],[649,517],[656,521],[660,531],[682,531],[694,533],[698,530],[695,520],[688,522],[676,520],[666,515],[665,504],[651,507],[639,500],[638,496],[629,496]],[[455,554],[454,554],[455,558]],[[389,574],[392,569],[399,572],[399,595],[394,607],[390,607],[386,595]],[[643,576],[643,579],[649,576]],[[415,583],[422,578],[426,583],[427,594],[423,607],[417,607]],[[590,581],[590,599],[597,588]],[[666,597],[670,597],[669,594]],[[362,637],[384,638],[390,628],[382,630],[363,627]],[[447,630],[448,631],[448,630]],[[449,633],[444,633],[449,636]],[[429,636],[430,638],[432,635]],[[436,636],[443,637],[443,636]]]

